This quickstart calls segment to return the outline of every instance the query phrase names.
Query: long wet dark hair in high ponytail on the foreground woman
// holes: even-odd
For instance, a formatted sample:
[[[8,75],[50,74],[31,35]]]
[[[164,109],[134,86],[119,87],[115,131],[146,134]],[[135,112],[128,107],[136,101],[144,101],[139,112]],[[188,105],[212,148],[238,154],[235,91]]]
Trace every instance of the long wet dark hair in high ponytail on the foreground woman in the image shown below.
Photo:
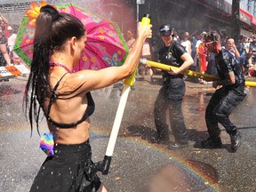
[[[68,38],[76,36],[79,39],[84,36],[84,33],[84,24],[76,17],[68,13],[59,13],[51,5],[45,5],[41,8],[36,19],[33,59],[24,97],[25,113],[28,114],[31,134],[33,117],[39,133],[40,112],[42,108],[44,109],[44,101],[50,94],[49,61],[52,52],[61,51]]]

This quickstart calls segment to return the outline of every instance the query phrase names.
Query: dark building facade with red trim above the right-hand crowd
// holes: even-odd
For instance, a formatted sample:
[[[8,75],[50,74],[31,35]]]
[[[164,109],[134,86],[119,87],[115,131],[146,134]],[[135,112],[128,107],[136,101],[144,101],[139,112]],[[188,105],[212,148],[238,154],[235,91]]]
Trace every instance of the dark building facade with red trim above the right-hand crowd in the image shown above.
[[[181,31],[218,29],[228,35],[231,33],[232,0],[145,0],[140,12],[140,17],[142,12],[152,12],[155,27],[169,23]],[[256,33],[255,0],[240,0],[239,20],[241,35]]]

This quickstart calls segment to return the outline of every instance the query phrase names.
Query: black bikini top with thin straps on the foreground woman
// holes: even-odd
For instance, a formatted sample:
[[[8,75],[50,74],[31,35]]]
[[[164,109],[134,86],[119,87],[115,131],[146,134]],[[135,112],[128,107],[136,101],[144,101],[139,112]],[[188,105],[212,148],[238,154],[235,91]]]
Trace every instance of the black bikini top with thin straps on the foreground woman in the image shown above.
[[[63,76],[61,76],[60,78],[60,81],[62,80],[62,78],[65,76],[66,74],[64,74]],[[88,106],[84,112],[84,116],[82,116],[82,118],[79,120],[79,121],[76,121],[75,123],[72,123],[72,124],[61,124],[61,123],[58,123],[58,122],[55,122],[50,116],[50,110],[52,108],[52,103],[54,100],[57,99],[57,93],[56,93],[56,90],[60,84],[60,81],[57,82],[57,84],[54,86],[54,88],[52,89],[52,95],[51,95],[51,98],[50,98],[50,102],[49,102],[49,107],[48,107],[48,112],[47,114],[45,114],[47,120],[51,123],[51,124],[54,124],[55,126],[59,127],[59,128],[73,128],[73,127],[76,127],[77,124],[81,124],[82,122],[84,122],[89,116],[92,115],[92,113],[94,112],[94,108],[95,108],[95,104],[94,104],[94,101],[92,99],[92,94],[91,92],[87,92],[86,93],[86,97],[87,97],[87,100],[88,100]],[[60,98],[59,98],[60,99]],[[61,100],[61,99],[60,99]],[[62,99],[64,100],[64,99]]]

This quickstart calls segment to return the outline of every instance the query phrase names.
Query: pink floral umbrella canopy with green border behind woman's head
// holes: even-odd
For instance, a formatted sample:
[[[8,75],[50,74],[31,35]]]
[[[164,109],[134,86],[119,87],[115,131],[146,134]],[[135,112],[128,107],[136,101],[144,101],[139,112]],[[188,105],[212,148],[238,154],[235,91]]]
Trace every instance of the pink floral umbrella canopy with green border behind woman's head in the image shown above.
[[[57,6],[59,12],[74,15],[84,23],[87,31],[87,42],[79,65],[74,70],[108,68],[119,66],[129,52],[124,36],[117,24],[105,19],[75,4]],[[33,42],[36,29],[29,25],[28,16],[24,15],[20,24],[13,51],[16,52],[28,66],[33,57]]]

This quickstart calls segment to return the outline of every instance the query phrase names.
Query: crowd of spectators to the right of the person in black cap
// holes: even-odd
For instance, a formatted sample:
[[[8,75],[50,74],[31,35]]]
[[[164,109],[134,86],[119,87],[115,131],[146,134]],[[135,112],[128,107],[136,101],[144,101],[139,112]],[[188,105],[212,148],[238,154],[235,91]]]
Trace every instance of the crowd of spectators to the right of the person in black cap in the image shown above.
[[[175,39],[185,47],[187,52],[194,59],[194,64],[190,68],[193,71],[213,75],[217,73],[214,57],[211,52],[207,52],[204,44],[204,36],[207,30],[175,32]],[[236,55],[237,62],[243,68],[245,76],[256,76],[256,36],[239,36],[237,42],[231,36],[220,32],[221,45]],[[211,84],[203,79],[198,79],[200,84]]]

